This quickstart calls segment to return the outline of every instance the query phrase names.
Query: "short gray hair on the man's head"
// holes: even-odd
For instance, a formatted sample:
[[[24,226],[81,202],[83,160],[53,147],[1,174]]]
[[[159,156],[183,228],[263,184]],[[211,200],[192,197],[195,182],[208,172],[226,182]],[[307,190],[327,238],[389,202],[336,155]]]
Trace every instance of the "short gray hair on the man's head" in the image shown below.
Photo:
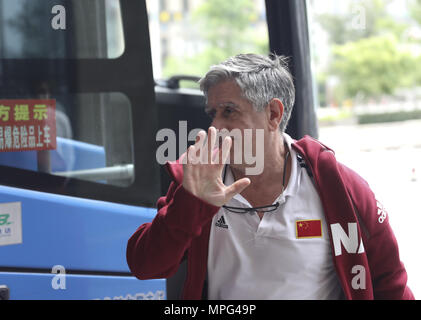
[[[295,100],[295,88],[288,71],[287,58],[271,54],[239,54],[214,65],[199,80],[206,101],[209,89],[219,82],[234,79],[256,111],[262,111],[274,98],[284,105],[284,115],[279,125],[285,131]]]

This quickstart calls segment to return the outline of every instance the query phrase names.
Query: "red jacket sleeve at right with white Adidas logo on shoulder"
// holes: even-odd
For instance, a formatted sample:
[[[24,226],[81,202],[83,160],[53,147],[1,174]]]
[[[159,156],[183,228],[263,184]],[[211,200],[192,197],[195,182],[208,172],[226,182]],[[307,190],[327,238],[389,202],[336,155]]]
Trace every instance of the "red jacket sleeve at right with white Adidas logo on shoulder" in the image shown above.
[[[354,204],[357,204],[356,213],[365,238],[374,299],[414,299],[407,286],[407,273],[400,260],[398,242],[386,210],[364,179],[351,170],[346,171],[347,177],[354,181],[349,191]]]

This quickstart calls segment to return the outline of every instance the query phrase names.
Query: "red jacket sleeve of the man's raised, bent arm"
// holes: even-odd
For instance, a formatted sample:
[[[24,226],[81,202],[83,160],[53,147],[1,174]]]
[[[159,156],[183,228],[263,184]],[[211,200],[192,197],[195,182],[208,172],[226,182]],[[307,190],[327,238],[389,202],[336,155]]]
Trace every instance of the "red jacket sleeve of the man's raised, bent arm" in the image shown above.
[[[127,264],[141,280],[172,276],[192,240],[219,210],[175,182],[157,207],[153,221],[141,225],[127,243]]]

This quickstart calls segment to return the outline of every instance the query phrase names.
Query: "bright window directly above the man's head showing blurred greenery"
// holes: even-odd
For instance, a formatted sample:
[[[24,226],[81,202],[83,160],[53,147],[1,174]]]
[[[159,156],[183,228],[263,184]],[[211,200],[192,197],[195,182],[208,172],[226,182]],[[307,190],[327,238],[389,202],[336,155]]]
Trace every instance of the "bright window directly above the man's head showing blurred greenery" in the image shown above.
[[[269,52],[263,0],[147,0],[155,79],[204,75],[245,52]],[[181,82],[183,87],[197,87]]]

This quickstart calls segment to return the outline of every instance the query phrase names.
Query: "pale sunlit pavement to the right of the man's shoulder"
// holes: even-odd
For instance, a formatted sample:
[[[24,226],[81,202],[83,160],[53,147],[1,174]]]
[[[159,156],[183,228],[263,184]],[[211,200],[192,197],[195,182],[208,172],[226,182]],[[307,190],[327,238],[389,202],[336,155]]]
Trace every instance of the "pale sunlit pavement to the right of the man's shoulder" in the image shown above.
[[[421,120],[321,127],[319,140],[358,172],[383,203],[408,285],[421,299]]]

